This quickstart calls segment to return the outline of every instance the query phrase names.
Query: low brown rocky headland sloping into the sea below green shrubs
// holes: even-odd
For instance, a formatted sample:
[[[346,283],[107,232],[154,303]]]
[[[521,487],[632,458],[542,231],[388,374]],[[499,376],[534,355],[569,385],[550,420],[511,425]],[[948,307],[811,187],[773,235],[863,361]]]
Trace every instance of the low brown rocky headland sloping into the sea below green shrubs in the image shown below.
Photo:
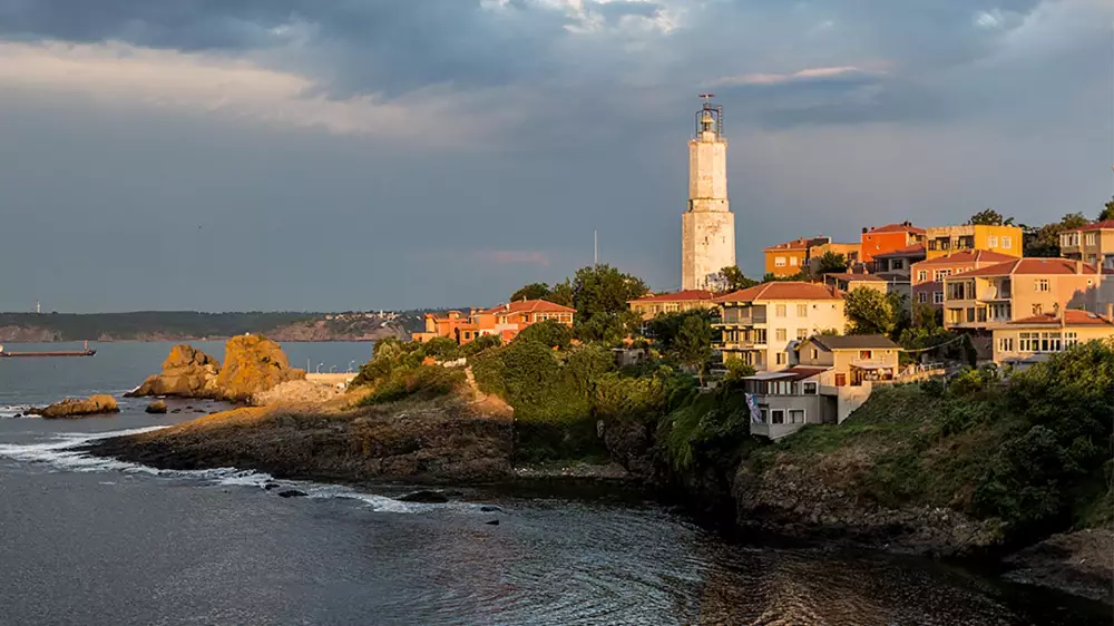
[[[450,397],[359,409],[243,408],[96,441],[87,450],[164,469],[238,467],[283,479],[437,485],[511,478],[514,439],[512,419]]]

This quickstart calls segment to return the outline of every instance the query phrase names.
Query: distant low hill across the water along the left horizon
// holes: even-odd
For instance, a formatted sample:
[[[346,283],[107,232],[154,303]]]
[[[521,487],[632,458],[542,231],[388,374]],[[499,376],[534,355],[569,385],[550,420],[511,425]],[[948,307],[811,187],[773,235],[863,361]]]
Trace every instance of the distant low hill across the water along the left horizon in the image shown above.
[[[371,341],[408,339],[420,325],[418,313],[0,313],[0,342],[189,341],[244,333],[276,341]]]

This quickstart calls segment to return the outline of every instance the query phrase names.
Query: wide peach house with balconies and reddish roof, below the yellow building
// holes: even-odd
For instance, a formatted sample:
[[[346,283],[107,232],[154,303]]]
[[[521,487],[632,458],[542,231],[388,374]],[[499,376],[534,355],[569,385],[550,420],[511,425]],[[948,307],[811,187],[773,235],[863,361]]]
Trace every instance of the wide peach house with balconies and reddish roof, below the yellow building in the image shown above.
[[[1114,270],[1067,258],[1017,258],[944,277],[944,325],[986,332],[1054,309],[1114,302]]]

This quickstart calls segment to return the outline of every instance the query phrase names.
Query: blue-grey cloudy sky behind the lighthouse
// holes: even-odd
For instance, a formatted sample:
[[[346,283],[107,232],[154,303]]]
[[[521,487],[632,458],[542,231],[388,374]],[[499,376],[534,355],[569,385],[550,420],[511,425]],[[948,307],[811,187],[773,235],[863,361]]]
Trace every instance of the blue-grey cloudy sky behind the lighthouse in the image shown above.
[[[697,95],[737,260],[1097,214],[1110,0],[0,0],[0,310],[490,305],[681,281]]]

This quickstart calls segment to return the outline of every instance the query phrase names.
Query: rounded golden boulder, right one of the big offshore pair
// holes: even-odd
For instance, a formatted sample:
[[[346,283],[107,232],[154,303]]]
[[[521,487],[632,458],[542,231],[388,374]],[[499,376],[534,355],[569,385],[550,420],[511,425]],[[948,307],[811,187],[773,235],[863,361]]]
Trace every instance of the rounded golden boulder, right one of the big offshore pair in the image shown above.
[[[216,387],[222,398],[246,402],[281,383],[304,379],[305,370],[291,368],[276,342],[260,335],[240,335],[224,346],[224,366]]]

